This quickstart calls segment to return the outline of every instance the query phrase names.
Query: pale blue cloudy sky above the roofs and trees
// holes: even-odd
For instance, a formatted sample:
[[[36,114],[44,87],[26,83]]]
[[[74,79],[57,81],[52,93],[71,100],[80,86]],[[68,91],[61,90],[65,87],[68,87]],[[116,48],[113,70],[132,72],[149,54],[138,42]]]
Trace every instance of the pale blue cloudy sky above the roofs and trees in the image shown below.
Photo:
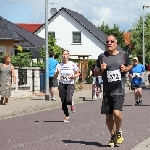
[[[95,26],[103,22],[113,27],[114,23],[121,31],[128,31],[143,16],[143,6],[150,6],[150,0],[48,0],[48,18],[50,9],[62,7],[82,14]],[[45,0],[0,0],[0,16],[13,23],[44,23]],[[150,8],[144,8],[144,14]]]

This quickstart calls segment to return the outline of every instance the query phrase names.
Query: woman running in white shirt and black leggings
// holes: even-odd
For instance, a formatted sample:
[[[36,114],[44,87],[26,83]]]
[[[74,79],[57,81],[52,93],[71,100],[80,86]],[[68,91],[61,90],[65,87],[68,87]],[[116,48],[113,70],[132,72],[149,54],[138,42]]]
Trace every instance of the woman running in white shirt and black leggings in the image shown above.
[[[62,53],[62,62],[57,65],[54,78],[58,77],[59,80],[59,97],[62,102],[62,110],[65,114],[64,122],[69,122],[69,111],[67,105],[71,106],[71,111],[75,112],[74,101],[72,101],[74,80],[79,76],[79,69],[77,65],[69,61],[69,51],[64,50]]]

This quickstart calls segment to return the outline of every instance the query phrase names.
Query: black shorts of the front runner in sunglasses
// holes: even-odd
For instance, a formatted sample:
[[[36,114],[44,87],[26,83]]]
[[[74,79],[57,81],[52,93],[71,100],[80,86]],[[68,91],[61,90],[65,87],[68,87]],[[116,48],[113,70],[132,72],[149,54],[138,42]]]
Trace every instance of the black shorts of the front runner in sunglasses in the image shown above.
[[[101,106],[101,114],[113,114],[113,110],[122,111],[123,103],[123,95],[104,96]]]

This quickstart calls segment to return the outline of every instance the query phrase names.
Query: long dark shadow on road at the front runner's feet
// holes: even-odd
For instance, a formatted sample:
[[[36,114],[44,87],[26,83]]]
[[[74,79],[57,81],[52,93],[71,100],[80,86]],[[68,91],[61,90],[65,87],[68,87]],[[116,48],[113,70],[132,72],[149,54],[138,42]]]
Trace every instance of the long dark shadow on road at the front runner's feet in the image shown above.
[[[98,142],[87,142],[87,141],[72,141],[72,140],[62,140],[64,143],[79,143],[79,144],[84,144],[84,145],[94,145],[97,147],[109,147],[108,145],[102,145],[101,143]]]

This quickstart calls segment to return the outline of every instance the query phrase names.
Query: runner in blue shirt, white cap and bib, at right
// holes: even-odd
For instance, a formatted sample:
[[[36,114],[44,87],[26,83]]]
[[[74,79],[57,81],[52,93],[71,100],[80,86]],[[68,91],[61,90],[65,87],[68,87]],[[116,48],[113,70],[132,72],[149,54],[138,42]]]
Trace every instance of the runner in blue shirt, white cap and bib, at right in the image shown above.
[[[142,78],[145,75],[145,67],[138,63],[138,58],[133,58],[133,68],[130,71],[131,89],[134,90],[135,106],[142,106]]]

